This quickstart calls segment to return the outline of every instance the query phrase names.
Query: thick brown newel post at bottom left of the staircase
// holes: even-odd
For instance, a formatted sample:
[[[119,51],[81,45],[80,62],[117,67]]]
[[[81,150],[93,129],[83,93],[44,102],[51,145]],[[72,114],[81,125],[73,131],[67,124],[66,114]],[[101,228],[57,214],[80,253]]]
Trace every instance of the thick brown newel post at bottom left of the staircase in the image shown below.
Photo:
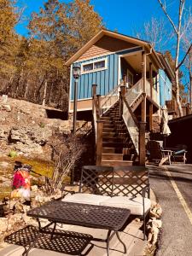
[[[96,137],[96,166],[102,164],[102,128],[103,121],[98,120],[97,123],[97,137]]]

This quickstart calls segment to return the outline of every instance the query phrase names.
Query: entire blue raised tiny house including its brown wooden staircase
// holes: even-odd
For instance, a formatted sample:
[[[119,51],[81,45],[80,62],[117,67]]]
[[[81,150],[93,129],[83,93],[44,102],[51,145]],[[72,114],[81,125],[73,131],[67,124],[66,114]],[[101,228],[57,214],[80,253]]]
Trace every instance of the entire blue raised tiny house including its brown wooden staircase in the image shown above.
[[[79,115],[90,117],[96,165],[144,165],[145,132],[154,132],[155,116],[172,98],[173,73],[164,56],[146,41],[102,30],[66,64],[69,113],[74,105]],[[78,87],[73,67],[81,71]]]

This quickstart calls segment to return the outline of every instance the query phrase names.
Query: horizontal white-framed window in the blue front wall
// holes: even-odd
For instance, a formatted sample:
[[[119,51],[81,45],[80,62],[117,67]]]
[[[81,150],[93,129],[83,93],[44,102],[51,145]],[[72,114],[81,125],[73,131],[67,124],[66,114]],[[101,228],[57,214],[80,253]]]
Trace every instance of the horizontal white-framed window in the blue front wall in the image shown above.
[[[89,61],[81,64],[81,73],[91,73],[106,69],[108,66],[108,59],[101,59],[97,61]]]

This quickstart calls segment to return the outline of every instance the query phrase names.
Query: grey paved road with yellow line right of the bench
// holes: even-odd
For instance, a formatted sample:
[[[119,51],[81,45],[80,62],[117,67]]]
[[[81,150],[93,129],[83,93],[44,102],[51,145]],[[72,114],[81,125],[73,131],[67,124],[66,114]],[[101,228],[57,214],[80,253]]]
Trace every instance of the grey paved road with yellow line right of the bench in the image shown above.
[[[163,208],[157,256],[192,256],[192,165],[149,170],[151,188]]]

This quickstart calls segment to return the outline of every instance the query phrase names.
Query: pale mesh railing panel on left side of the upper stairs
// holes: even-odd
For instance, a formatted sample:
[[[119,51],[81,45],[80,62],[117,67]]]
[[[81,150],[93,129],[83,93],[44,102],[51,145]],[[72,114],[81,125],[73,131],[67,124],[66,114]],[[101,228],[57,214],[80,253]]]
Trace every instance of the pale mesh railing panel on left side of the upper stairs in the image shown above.
[[[107,96],[101,98],[101,115],[106,113],[108,109],[119,100],[119,87],[116,85],[113,90],[110,90]]]

